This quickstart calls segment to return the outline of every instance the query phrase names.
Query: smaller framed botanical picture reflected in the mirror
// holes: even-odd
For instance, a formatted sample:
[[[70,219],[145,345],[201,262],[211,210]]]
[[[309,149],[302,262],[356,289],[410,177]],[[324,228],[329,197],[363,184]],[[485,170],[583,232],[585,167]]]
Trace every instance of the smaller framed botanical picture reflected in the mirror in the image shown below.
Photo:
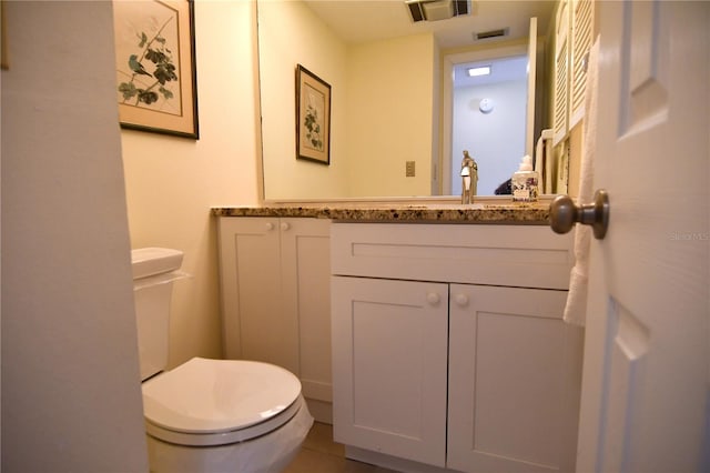
[[[296,67],[296,159],[331,164],[331,85]]]

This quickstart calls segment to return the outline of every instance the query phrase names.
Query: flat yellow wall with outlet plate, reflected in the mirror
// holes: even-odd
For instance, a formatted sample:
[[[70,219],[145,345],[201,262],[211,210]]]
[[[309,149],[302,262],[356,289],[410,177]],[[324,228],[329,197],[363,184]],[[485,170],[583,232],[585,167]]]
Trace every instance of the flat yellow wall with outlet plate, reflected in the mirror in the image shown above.
[[[352,195],[430,193],[437,51],[432,34],[348,48]],[[405,175],[406,161],[415,162],[413,178]]]

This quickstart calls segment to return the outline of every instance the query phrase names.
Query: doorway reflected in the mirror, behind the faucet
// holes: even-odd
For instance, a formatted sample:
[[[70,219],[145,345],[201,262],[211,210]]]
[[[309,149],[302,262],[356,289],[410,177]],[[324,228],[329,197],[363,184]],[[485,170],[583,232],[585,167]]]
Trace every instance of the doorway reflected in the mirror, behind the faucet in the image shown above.
[[[442,194],[460,195],[459,172],[464,150],[469,151],[477,163],[479,160],[481,161],[478,163],[477,195],[494,195],[496,189],[510,179],[518,169],[521,158],[525,154],[532,157],[538,59],[537,18],[530,18],[527,43],[498,47],[493,44],[487,48],[444,56],[442,154],[439,155]],[[490,78],[479,79],[479,89],[474,88],[473,91],[464,92],[475,82],[460,82],[460,78],[465,77],[466,71],[475,66],[491,66],[491,71],[499,71],[499,80],[495,79],[495,72],[490,73],[488,74],[491,76]],[[504,71],[507,72],[504,73]],[[516,74],[518,72],[523,76],[526,89],[521,92],[501,90],[504,82],[517,81]],[[499,82],[497,88],[493,85],[495,82]],[[494,100],[493,93],[497,99]],[[521,101],[515,100],[518,95],[523,97]],[[509,115],[505,117],[506,113]],[[465,114],[467,120],[459,124],[455,114]],[[520,129],[517,123],[520,117],[523,117],[521,148],[517,144],[519,140],[517,130]],[[476,121],[479,123],[476,124]],[[496,122],[498,123],[494,129]],[[476,129],[473,128],[474,125]]]

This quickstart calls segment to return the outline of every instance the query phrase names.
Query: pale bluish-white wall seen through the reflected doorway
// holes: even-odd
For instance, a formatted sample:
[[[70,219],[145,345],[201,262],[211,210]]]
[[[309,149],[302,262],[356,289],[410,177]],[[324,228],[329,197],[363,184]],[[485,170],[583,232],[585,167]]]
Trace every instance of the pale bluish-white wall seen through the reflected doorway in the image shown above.
[[[490,113],[478,109],[488,98]],[[478,163],[478,194],[493,195],[518,170],[525,154],[527,79],[454,91],[452,193],[462,193],[460,161],[468,150]]]

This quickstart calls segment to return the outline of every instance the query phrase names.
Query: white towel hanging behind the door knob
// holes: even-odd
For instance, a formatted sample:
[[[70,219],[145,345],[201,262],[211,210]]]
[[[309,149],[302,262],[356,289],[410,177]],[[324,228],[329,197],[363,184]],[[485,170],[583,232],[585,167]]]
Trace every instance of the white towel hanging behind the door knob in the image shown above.
[[[579,174],[579,197],[577,204],[589,203],[594,199],[595,142],[597,139],[597,61],[599,38],[589,49],[587,62],[587,84],[585,90],[584,145]],[[589,245],[591,227],[575,225],[575,266],[569,276],[569,293],[565,306],[565,322],[585,325],[587,318],[587,288],[589,278]]]

